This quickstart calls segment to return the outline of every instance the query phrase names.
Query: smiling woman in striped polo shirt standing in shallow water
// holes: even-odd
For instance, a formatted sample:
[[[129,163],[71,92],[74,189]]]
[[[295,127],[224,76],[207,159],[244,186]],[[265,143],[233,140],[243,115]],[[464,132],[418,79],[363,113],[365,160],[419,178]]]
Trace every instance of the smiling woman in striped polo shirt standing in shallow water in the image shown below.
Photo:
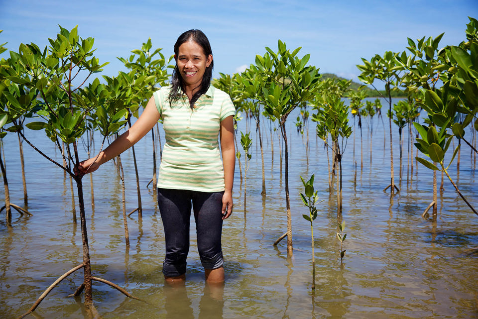
[[[233,210],[235,108],[226,93],[210,85],[213,55],[203,32],[181,34],[174,59],[171,85],[154,92],[134,125],[97,158],[81,162],[78,171],[95,171],[140,140],[161,118],[166,144],[157,187],[166,242],[165,280],[185,280],[192,207],[206,281],[223,282],[221,231]]]

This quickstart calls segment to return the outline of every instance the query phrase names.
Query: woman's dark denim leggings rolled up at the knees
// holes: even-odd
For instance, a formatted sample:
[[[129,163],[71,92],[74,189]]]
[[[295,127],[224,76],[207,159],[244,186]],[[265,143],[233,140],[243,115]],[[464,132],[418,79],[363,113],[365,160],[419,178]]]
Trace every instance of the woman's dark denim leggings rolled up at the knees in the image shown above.
[[[224,192],[205,193],[158,188],[158,206],[166,241],[166,257],[163,262],[165,276],[176,277],[186,273],[191,207],[196,220],[201,264],[205,269],[216,269],[223,265],[223,194]]]

